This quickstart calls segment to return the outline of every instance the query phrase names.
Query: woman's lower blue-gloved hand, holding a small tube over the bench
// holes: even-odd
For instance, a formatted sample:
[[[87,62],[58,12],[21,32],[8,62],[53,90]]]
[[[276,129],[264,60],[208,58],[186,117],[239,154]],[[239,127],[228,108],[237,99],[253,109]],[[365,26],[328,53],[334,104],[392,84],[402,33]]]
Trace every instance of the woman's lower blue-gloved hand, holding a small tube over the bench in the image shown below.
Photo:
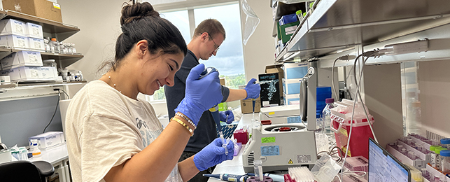
[[[197,169],[204,171],[208,167],[220,164],[224,160],[232,160],[234,154],[234,144],[232,141],[227,144],[228,155],[225,155],[225,148],[222,147],[220,138],[205,146],[202,151],[194,155],[194,164]]]

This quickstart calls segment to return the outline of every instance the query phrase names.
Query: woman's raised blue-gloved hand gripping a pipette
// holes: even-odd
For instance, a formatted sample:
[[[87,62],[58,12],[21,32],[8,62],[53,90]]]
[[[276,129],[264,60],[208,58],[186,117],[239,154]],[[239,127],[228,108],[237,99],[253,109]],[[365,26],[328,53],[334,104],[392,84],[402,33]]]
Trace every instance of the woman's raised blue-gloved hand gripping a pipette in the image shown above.
[[[199,79],[203,70],[204,64],[199,64],[190,70],[188,78],[186,78],[185,97],[175,109],[175,113],[183,113],[196,126],[202,113],[219,104],[223,99],[219,73],[214,71]]]

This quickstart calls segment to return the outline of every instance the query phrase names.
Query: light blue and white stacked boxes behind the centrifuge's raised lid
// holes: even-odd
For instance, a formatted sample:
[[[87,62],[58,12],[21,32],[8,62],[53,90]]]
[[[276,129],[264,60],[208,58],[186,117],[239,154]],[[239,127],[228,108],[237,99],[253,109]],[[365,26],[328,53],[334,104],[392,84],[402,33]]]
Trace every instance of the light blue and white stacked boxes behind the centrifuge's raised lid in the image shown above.
[[[300,104],[300,80],[307,74],[308,64],[306,62],[285,63],[283,72],[284,104]]]

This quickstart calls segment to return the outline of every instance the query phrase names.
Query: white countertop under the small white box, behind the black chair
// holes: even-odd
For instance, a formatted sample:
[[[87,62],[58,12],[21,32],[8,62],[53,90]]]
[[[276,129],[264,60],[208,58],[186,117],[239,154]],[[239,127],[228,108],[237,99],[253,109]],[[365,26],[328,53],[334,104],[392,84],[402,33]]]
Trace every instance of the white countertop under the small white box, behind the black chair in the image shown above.
[[[66,144],[62,144],[61,146],[56,146],[47,150],[41,150],[41,159],[31,158],[30,161],[45,160],[47,162],[50,162],[52,165],[55,165],[55,163],[66,160],[68,158],[69,154],[67,153]]]

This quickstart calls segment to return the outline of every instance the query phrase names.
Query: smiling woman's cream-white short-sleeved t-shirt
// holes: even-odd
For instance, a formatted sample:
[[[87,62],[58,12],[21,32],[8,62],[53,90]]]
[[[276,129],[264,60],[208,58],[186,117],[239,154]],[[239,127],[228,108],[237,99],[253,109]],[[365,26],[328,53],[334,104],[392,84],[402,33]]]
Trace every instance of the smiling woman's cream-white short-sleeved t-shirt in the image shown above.
[[[112,167],[139,153],[162,132],[153,107],[101,80],[87,83],[71,100],[65,133],[73,181],[104,181]],[[166,181],[183,181],[174,167]]]

